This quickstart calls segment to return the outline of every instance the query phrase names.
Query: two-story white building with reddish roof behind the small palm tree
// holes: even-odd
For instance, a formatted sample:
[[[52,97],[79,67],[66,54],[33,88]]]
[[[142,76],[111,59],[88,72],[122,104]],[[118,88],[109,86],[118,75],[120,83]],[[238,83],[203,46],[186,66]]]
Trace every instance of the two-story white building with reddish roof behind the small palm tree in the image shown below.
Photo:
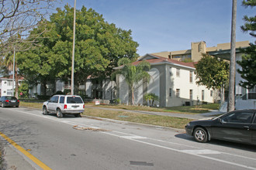
[[[134,93],[135,104],[147,104],[144,100],[147,93],[155,93],[159,97],[159,101],[155,104],[160,107],[213,103],[216,100],[213,89],[195,83],[194,63],[147,54],[140,57],[133,65],[136,66],[142,60],[150,63],[151,68],[148,73],[151,78],[149,83],[143,83],[141,80],[137,84]],[[131,93],[123,76],[116,77],[116,87],[116,98],[119,98],[122,104],[130,104]]]

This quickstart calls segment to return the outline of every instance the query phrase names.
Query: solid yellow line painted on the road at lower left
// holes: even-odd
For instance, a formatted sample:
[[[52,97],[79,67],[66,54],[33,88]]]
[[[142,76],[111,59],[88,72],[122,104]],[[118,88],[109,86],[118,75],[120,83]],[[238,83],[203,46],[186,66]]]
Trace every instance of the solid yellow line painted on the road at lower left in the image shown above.
[[[12,141],[12,139],[8,138],[5,134],[3,134],[0,131],[0,135],[2,138],[5,138],[6,141],[8,141],[12,146],[14,146],[16,149],[18,149],[20,152],[22,152],[23,155],[26,155],[27,158],[29,158],[31,161],[35,162],[36,165],[40,166],[40,168],[43,168],[44,170],[51,170],[50,167],[47,165],[43,164],[43,162],[40,162],[40,160],[36,157],[34,157],[32,154],[30,154],[28,151],[26,151],[24,148],[16,144],[15,141]]]

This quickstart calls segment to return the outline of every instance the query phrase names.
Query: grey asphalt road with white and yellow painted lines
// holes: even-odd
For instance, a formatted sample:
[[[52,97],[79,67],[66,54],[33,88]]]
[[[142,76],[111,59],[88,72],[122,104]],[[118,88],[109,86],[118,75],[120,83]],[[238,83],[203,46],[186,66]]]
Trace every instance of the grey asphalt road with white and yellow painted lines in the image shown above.
[[[30,154],[17,151],[35,169],[43,164],[61,170],[256,170],[254,146],[225,141],[201,144],[182,130],[124,121],[72,116],[60,119],[54,114],[43,115],[41,110],[0,108],[0,132]]]

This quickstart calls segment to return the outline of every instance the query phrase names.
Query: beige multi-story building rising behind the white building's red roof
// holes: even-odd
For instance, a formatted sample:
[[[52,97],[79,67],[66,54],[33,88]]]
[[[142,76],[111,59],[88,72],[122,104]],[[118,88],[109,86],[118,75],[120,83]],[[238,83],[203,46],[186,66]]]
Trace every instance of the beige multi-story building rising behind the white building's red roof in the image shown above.
[[[236,48],[244,48],[249,46],[249,41],[236,42]],[[176,59],[184,61],[185,59],[191,59],[193,62],[197,62],[202,58],[202,53],[214,55],[215,53],[228,52],[230,54],[230,42],[217,44],[217,46],[206,47],[206,42],[191,42],[191,49],[169,51],[161,53],[152,53],[153,55],[161,56],[168,59]]]

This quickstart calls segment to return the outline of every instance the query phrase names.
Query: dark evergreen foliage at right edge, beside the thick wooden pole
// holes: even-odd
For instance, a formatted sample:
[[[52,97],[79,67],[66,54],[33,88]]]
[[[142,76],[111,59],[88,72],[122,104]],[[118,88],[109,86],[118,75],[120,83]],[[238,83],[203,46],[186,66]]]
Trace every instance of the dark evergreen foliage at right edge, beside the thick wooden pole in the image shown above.
[[[256,5],[255,0],[247,0],[243,1],[243,5],[245,7],[254,8]],[[247,15],[244,16],[244,26],[240,28],[244,32],[249,32],[249,34],[253,37],[256,37],[255,30],[256,30],[256,15],[252,17],[248,17]],[[244,88],[254,88],[256,86],[256,42],[250,43],[250,46],[246,49],[240,49],[241,53],[244,53],[242,59],[237,61],[242,67],[242,70],[237,70],[240,73],[241,77],[244,80],[240,81],[240,86]]]

